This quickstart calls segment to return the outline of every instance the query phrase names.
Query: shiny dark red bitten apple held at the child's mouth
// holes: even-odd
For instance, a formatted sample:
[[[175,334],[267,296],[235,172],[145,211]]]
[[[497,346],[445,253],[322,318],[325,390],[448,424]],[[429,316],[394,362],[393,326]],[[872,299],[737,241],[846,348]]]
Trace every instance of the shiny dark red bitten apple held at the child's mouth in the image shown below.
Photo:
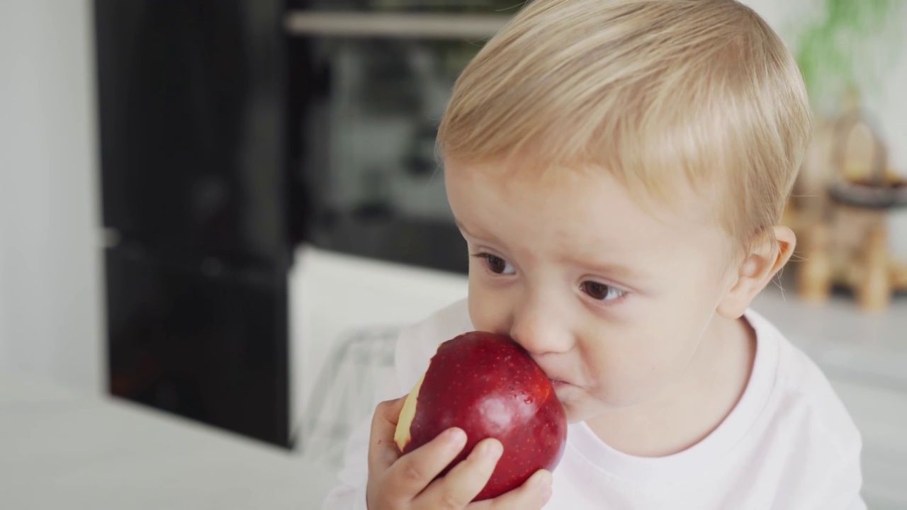
[[[564,409],[545,373],[511,338],[482,331],[438,347],[407,397],[395,442],[405,455],[450,427],[463,428],[466,446],[439,476],[486,437],[503,445],[493,475],[473,501],[511,491],[541,468],[553,471],[567,441]]]

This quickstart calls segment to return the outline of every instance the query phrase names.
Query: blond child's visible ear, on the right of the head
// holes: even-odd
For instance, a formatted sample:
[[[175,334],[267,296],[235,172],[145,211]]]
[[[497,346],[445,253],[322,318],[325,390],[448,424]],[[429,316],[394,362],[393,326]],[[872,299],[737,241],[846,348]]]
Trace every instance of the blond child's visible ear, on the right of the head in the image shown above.
[[[767,235],[760,236],[737,269],[733,284],[718,303],[717,312],[721,316],[727,319],[743,316],[756,295],[766,288],[793,255],[796,246],[794,231],[782,226],[773,229],[775,240]]]

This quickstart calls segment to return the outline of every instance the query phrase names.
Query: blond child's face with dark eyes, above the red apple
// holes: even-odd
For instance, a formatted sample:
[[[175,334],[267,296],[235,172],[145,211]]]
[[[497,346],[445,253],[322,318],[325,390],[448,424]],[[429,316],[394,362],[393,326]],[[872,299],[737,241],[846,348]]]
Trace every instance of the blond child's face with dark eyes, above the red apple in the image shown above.
[[[471,255],[473,325],[511,335],[563,381],[571,422],[658,397],[684,375],[734,273],[705,201],[678,189],[682,207],[653,215],[602,170],[445,167]]]

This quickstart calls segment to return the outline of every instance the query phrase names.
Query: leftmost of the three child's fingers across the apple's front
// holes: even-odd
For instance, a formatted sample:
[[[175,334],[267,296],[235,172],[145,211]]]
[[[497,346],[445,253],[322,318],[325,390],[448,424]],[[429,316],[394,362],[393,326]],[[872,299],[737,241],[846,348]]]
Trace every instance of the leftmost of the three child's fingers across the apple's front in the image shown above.
[[[453,427],[401,456],[387,471],[385,478],[392,494],[415,497],[463,450],[466,433]]]

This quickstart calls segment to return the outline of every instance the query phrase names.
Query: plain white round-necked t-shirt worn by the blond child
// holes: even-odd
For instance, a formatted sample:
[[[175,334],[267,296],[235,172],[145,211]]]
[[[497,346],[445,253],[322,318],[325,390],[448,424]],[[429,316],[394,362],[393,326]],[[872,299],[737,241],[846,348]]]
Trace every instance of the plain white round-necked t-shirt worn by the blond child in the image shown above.
[[[862,441],[843,403],[771,323],[752,310],[746,319],[756,330],[756,360],[743,397],[715,431],[678,454],[650,458],[620,453],[573,424],[545,510],[865,508]],[[404,396],[438,344],[472,329],[465,301],[405,329],[379,398]],[[366,508],[368,426],[347,443],[341,485],[324,509]]]

